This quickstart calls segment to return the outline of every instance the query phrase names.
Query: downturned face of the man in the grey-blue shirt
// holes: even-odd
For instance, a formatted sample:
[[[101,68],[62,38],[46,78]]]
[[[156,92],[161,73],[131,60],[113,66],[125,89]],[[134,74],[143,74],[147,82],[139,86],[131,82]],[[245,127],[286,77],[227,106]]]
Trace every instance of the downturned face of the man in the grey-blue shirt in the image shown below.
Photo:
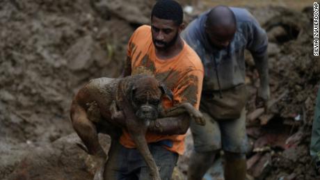
[[[230,42],[236,33],[236,28],[223,28],[223,27],[205,27],[205,31],[208,35],[209,42],[216,49],[225,49],[229,46]]]

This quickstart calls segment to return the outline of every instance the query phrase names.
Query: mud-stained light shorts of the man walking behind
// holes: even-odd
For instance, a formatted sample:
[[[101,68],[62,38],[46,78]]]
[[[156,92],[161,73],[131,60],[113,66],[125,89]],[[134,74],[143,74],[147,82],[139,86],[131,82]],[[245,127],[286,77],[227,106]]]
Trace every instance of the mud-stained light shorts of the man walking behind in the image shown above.
[[[248,151],[245,108],[236,120],[214,120],[209,114],[202,113],[206,120],[205,126],[191,122],[195,152],[211,152],[218,149],[234,153]]]

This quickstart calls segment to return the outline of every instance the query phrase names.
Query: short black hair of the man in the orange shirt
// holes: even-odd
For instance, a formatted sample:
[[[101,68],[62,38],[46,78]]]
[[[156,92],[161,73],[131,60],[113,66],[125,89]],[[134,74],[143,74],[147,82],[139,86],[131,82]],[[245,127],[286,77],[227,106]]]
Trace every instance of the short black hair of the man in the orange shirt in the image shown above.
[[[183,22],[184,13],[181,5],[177,3],[177,1],[159,0],[152,8],[151,19],[152,17],[173,20],[175,25],[179,26]]]

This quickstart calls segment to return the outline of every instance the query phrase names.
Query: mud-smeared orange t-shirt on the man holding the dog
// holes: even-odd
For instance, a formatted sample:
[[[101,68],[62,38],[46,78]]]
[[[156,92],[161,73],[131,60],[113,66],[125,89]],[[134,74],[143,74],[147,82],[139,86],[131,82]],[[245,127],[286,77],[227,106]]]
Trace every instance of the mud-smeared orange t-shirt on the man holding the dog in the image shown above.
[[[150,26],[143,25],[136,29],[128,43],[127,56],[131,64],[131,74],[153,74],[173,92],[173,101],[164,98],[162,105],[170,108],[174,104],[189,102],[199,109],[204,70],[198,55],[184,42],[184,48],[177,56],[161,60],[155,54]],[[185,135],[159,135],[147,132],[147,142],[172,140],[173,147],[166,147],[172,152],[183,154]],[[134,148],[134,141],[124,129],[120,143],[127,148]]]

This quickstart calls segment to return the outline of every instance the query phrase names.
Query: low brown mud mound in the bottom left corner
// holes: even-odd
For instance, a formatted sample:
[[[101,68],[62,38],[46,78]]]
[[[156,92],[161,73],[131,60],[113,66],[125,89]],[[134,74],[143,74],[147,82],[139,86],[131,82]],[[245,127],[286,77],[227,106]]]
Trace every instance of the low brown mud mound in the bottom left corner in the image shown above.
[[[76,145],[79,141],[77,134],[72,133],[50,145],[36,147],[22,159],[8,180],[93,179],[95,162]],[[104,145],[109,142],[104,139]]]

